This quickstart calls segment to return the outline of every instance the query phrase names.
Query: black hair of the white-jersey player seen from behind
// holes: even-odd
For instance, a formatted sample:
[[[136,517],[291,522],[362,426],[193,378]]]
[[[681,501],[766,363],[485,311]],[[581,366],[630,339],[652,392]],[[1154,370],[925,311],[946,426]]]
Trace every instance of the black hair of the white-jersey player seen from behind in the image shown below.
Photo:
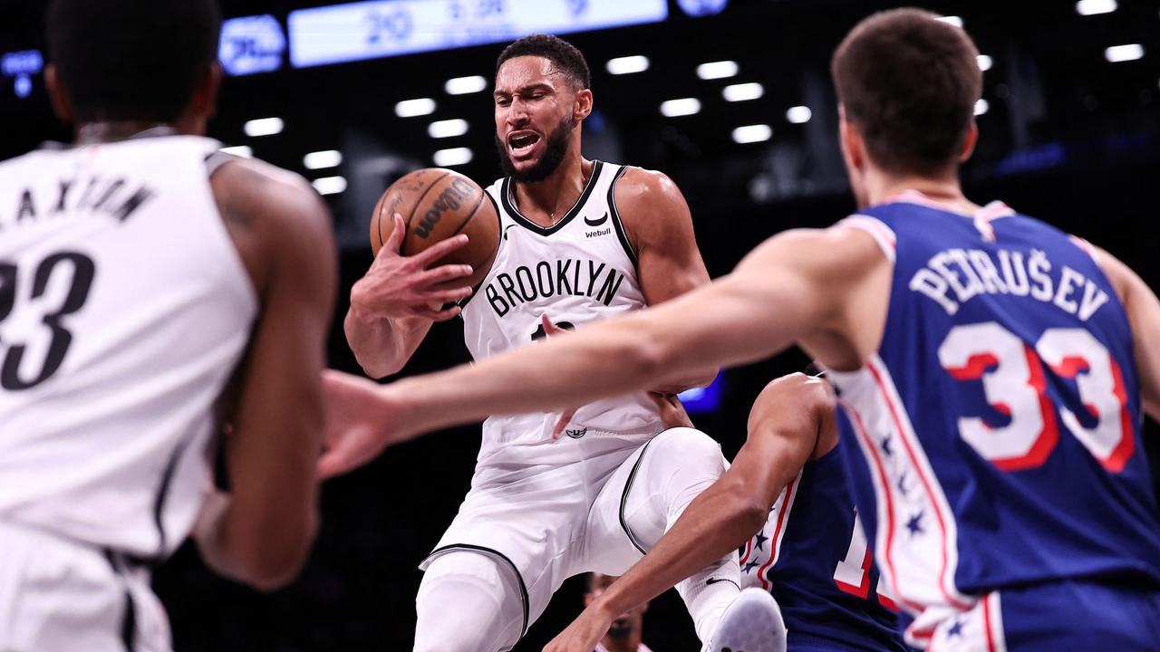
[[[49,57],[77,122],[174,122],[216,59],[217,0],[55,0]]]

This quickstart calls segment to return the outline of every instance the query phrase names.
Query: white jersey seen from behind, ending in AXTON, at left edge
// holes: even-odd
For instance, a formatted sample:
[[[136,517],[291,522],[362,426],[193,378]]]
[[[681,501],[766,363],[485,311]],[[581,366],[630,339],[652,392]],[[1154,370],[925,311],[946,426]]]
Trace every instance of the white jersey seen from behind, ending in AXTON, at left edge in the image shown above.
[[[143,557],[209,488],[213,403],[254,289],[218,213],[206,138],[41,150],[0,164],[0,519]]]

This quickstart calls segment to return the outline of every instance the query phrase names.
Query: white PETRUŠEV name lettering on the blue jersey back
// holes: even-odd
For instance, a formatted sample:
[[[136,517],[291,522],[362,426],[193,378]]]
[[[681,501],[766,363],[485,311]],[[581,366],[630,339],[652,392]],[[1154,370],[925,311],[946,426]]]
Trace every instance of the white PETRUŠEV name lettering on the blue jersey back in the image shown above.
[[[983,249],[938,252],[914,273],[909,288],[934,299],[947,314],[955,314],[962,304],[984,294],[1031,297],[1083,321],[1108,303],[1108,292],[1071,267],[1064,265],[1053,275],[1045,252],[1031,249],[1024,256],[1023,252],[1001,248],[994,256],[998,261]]]

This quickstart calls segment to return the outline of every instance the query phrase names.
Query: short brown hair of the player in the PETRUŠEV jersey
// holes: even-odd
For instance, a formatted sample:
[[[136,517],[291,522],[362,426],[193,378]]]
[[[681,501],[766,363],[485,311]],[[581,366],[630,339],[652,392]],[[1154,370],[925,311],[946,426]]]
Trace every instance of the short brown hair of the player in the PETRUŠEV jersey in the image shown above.
[[[962,28],[921,9],[880,12],[850,31],[831,72],[875,164],[930,174],[957,162],[983,93],[978,55]]]

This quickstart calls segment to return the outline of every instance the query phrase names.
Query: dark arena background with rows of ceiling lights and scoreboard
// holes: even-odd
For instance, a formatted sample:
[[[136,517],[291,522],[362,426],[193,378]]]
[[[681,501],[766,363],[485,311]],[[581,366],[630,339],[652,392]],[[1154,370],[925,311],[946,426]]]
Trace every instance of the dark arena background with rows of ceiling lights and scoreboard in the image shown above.
[[[1160,0],[915,3],[956,16],[984,55],[981,138],[963,169],[967,197],[1001,198],[1082,236],[1160,288]],[[44,92],[44,5],[0,2],[0,158],[70,138]],[[896,6],[223,5],[227,77],[209,135],[302,173],[325,195],[342,263],[329,361],[351,371],[357,365],[341,319],[350,284],[371,261],[371,208],[414,168],[452,167],[483,186],[500,175],[490,90],[507,42],[551,31],[585,52],[596,107],[585,124],[586,155],[670,175],[691,205],[709,270],[719,276],[761,239],[825,226],[855,208],[839,152],[829,55],[860,19]],[[336,38],[340,28],[347,31]],[[462,331],[458,320],[436,325],[404,375],[465,362]],[[789,352],[724,371],[695,405],[694,421],[732,456],[759,390],[806,362]],[[1147,430],[1155,469],[1160,440],[1153,423]],[[311,563],[273,595],[211,575],[196,550],[183,548],[155,574],[179,652],[411,650],[416,564],[467,491],[478,444],[478,427],[438,433],[327,483]],[[516,650],[539,650],[579,613],[581,594],[579,579],[565,584]],[[654,601],[645,626],[645,643],[658,652],[698,649],[674,592]]]

